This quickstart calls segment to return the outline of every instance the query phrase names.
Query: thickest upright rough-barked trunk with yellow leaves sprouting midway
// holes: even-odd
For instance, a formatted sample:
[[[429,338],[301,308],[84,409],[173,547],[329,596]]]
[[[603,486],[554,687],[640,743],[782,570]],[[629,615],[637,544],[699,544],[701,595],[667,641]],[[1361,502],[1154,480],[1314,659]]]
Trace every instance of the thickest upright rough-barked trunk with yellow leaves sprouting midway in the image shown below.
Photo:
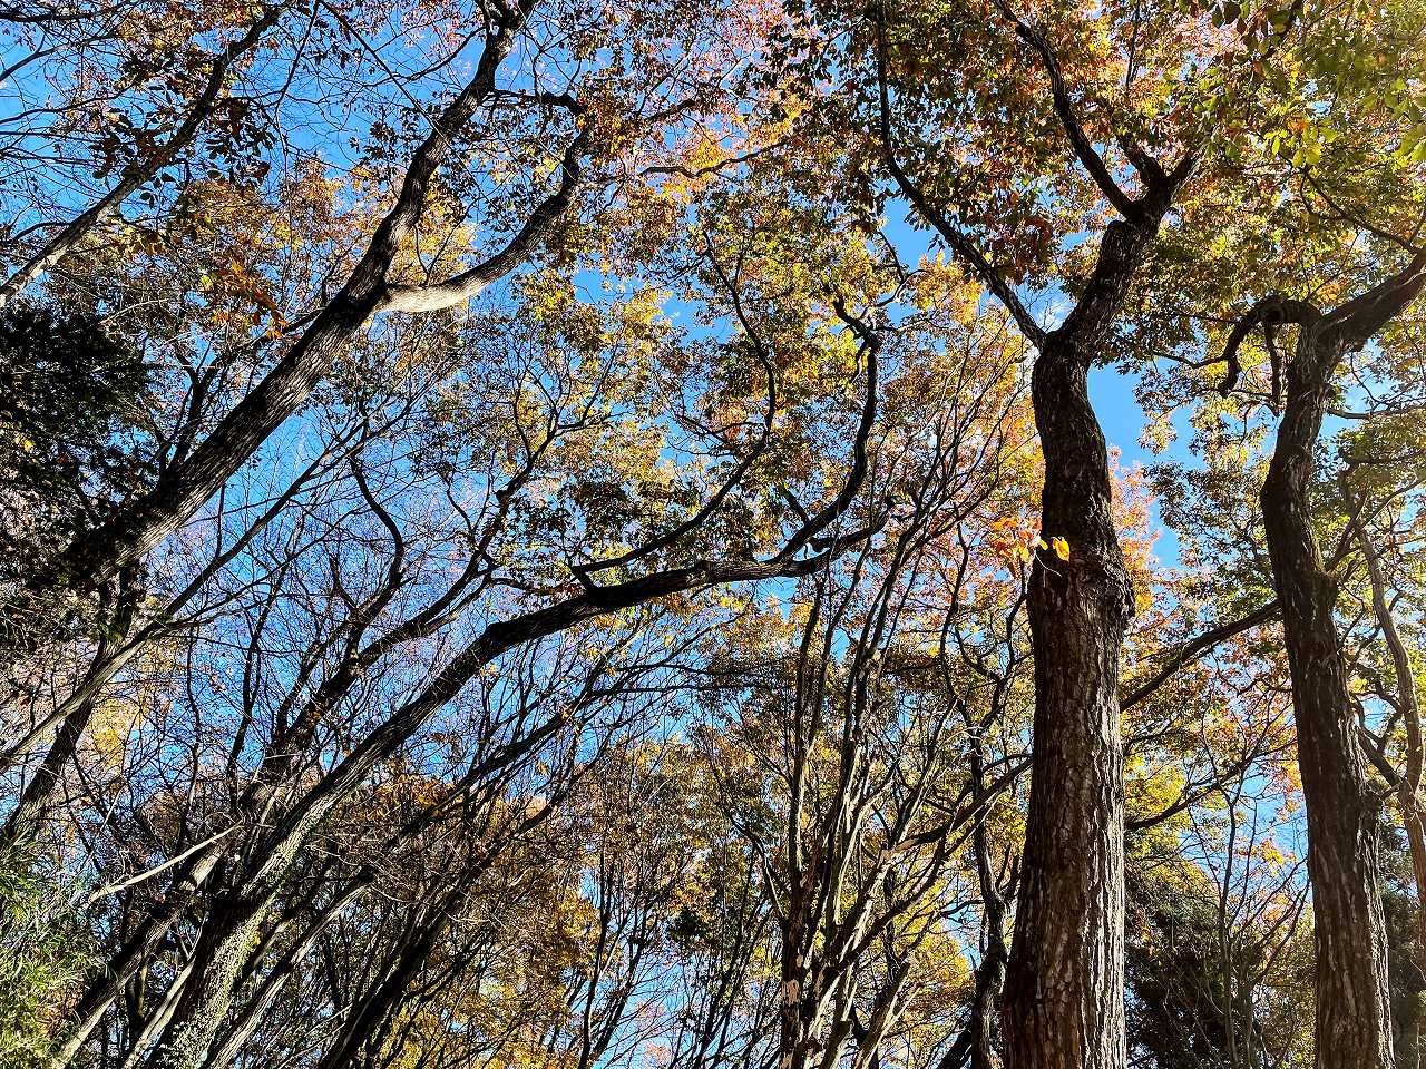
[[[1088,373],[1152,232],[1107,228],[1095,274],[1065,324],[1044,338],[1031,379],[1045,458],[1042,534],[1064,539],[1070,559],[1041,550],[1030,583],[1035,744],[1005,981],[1011,1069],[1125,1065],[1118,683],[1134,599]]]

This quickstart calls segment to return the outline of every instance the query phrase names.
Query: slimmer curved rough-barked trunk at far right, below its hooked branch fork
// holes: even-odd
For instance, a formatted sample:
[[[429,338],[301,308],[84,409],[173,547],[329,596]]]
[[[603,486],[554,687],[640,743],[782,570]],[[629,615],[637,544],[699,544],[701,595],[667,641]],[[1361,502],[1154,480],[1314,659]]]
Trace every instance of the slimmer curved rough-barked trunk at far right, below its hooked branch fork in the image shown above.
[[[1379,800],[1366,777],[1333,611],[1336,583],[1312,530],[1313,455],[1340,344],[1305,326],[1286,372],[1286,405],[1262,520],[1282,603],[1298,764],[1308,808],[1316,942],[1316,1065],[1393,1065],[1386,924],[1378,881]]]

